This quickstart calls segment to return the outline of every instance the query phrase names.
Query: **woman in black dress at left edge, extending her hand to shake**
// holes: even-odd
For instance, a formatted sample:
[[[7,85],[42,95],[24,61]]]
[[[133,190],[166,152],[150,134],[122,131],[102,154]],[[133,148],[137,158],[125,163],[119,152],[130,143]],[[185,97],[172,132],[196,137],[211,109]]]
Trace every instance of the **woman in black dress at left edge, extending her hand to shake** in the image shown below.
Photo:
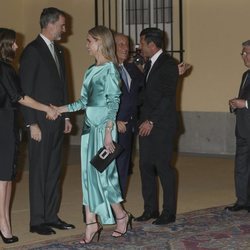
[[[15,57],[16,33],[0,28],[0,236],[5,243],[18,241],[10,224],[10,197],[15,178],[18,133],[16,126],[18,103],[44,111],[54,120],[57,113],[51,107],[26,96],[11,62]]]

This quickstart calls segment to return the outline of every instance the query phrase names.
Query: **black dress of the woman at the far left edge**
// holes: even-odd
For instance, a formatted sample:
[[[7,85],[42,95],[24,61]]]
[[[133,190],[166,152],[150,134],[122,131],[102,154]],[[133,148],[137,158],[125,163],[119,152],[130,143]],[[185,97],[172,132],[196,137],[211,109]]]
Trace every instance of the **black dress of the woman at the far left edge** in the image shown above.
[[[24,96],[15,69],[0,59],[0,180],[16,174],[18,146],[17,107]]]

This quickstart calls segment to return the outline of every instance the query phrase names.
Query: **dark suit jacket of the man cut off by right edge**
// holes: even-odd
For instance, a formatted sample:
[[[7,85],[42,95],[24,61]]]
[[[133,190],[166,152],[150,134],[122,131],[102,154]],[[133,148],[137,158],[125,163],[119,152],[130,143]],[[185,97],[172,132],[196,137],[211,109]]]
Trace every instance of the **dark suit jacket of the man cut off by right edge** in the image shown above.
[[[247,70],[242,75],[241,86],[239,91],[239,99],[248,101],[248,109],[242,108],[235,111],[236,114],[236,135],[237,133],[246,138],[250,137],[250,84],[244,84],[250,70]],[[244,84],[244,86],[243,86]]]

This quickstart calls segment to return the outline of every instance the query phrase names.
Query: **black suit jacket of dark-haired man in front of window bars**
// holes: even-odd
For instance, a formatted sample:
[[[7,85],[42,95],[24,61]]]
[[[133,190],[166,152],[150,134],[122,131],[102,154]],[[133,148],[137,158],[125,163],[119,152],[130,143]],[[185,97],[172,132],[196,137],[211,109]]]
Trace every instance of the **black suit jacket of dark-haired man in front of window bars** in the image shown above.
[[[143,91],[141,122],[150,120],[155,128],[176,128],[176,87],[178,66],[163,52],[152,66]]]

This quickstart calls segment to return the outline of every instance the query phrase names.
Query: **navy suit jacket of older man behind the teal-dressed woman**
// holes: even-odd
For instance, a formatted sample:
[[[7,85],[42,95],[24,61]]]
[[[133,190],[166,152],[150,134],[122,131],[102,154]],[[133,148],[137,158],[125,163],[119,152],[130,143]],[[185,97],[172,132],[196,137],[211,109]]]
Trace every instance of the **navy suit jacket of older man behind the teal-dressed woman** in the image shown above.
[[[134,63],[124,63],[131,77],[130,90],[122,82],[120,106],[117,113],[118,121],[132,121],[135,125],[138,111],[138,93],[143,87],[144,75]]]

